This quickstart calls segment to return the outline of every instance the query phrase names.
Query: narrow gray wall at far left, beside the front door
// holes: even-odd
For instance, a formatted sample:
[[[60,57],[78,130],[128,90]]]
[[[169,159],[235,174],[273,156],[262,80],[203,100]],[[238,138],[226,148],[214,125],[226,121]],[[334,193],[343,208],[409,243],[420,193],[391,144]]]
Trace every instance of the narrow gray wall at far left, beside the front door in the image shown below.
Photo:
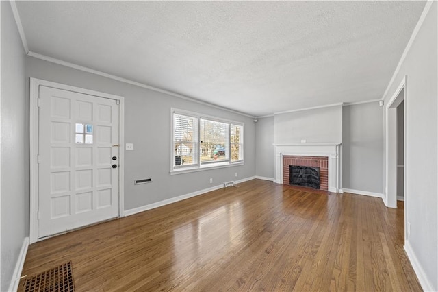
[[[1,291],[7,291],[28,231],[25,52],[8,1],[1,1]]]

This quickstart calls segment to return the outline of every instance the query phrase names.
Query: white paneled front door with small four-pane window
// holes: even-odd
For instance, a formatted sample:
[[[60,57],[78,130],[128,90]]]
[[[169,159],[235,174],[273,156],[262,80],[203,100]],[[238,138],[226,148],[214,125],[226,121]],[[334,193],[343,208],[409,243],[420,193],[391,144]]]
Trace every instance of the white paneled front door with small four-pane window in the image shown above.
[[[39,86],[38,239],[119,215],[119,101]]]

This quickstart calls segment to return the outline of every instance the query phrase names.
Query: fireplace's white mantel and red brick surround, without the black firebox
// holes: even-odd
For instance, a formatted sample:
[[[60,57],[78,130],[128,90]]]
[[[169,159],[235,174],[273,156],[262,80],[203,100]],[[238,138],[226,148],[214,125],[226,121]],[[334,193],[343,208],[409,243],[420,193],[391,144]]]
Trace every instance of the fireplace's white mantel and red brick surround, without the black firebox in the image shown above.
[[[339,192],[340,143],[282,143],[274,147],[275,183],[289,184],[289,165],[320,167],[320,189]]]

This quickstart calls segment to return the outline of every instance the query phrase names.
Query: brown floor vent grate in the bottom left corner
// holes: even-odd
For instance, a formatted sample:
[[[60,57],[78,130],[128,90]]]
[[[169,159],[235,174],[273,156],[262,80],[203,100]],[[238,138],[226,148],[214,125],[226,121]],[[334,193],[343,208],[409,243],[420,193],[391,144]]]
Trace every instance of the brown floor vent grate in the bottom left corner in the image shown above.
[[[49,269],[26,279],[25,292],[74,292],[73,272],[71,262]]]

